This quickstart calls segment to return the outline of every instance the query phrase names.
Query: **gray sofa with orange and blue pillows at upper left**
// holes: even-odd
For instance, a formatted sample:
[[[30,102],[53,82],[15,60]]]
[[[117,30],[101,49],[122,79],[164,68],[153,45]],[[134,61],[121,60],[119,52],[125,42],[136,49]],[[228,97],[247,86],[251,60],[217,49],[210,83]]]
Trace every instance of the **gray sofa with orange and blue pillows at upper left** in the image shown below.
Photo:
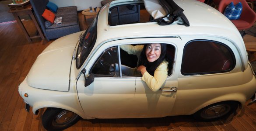
[[[30,0],[35,17],[48,41],[80,31],[76,6],[58,8],[55,16],[63,18],[62,24],[57,26],[55,23],[51,24],[42,17],[48,2],[49,0]]]

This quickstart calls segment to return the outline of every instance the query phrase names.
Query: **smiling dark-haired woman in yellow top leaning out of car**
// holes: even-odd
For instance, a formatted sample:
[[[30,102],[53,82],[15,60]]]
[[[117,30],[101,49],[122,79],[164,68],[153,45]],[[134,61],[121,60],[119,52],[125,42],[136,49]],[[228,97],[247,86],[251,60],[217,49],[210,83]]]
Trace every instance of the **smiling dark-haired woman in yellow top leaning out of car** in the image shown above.
[[[152,91],[158,91],[168,75],[168,62],[165,61],[166,44],[121,45],[128,54],[137,55],[137,68],[131,72],[140,72],[142,80]],[[129,73],[132,74],[132,73]],[[136,75],[135,75],[136,76]]]

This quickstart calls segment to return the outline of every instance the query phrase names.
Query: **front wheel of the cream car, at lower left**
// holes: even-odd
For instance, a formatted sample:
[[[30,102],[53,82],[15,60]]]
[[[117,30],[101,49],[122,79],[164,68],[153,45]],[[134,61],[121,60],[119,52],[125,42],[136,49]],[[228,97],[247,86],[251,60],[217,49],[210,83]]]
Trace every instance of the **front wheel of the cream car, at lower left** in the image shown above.
[[[64,130],[79,121],[80,116],[69,110],[47,108],[42,115],[42,125],[48,131]]]

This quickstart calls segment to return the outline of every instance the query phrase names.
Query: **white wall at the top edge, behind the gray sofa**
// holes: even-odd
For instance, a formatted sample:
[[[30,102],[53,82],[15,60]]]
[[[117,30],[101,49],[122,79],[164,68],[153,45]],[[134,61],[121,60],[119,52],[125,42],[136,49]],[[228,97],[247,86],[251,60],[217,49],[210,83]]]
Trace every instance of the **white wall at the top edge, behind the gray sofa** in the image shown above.
[[[77,6],[77,10],[89,9],[89,7],[102,7],[102,0],[49,0],[58,7]]]

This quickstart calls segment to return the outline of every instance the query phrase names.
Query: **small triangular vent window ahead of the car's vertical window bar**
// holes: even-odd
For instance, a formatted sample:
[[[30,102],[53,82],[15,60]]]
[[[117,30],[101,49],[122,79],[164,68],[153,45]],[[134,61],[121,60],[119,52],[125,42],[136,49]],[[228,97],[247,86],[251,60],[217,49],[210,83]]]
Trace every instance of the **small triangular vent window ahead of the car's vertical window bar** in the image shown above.
[[[91,72],[95,76],[119,77],[118,63],[118,50],[114,46],[102,52]]]

